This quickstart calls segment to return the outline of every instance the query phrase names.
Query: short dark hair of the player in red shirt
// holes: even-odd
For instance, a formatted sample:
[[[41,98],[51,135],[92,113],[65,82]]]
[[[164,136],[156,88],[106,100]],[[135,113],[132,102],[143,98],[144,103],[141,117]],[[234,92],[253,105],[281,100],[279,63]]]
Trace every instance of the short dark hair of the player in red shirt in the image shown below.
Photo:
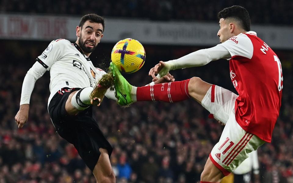
[[[218,18],[234,18],[239,20],[245,31],[250,31],[250,17],[248,11],[242,6],[231,6],[224,8],[218,13]]]

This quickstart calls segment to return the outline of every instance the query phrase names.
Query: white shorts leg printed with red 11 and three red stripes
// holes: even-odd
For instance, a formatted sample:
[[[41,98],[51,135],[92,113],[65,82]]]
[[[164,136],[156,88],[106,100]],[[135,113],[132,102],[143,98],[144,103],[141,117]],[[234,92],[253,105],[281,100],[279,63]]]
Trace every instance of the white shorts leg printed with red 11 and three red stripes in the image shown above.
[[[224,175],[228,175],[248,158],[248,153],[255,151],[264,143],[265,141],[239,126],[233,110],[219,142],[214,146],[209,157]]]

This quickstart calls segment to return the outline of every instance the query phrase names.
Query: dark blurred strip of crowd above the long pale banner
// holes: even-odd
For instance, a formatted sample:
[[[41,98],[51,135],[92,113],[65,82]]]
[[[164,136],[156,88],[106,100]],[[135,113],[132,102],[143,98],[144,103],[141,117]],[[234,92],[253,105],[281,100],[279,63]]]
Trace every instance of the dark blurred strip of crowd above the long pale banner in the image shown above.
[[[219,0],[0,0],[0,13],[38,13],[84,15],[97,13],[106,17],[144,18],[150,20],[217,20],[223,8],[241,5],[253,12],[252,23],[292,25],[293,1],[219,1]]]

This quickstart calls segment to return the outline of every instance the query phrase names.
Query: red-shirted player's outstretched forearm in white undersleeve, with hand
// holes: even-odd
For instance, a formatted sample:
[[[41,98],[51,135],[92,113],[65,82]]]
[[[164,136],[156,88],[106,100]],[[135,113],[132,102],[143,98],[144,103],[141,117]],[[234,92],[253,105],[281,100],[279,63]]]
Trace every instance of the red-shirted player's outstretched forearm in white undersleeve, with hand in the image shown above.
[[[192,52],[179,59],[170,60],[168,62],[160,61],[160,63],[150,70],[149,75],[153,77],[153,81],[157,81],[158,78],[165,76],[170,70],[204,66],[213,60],[229,57],[231,57],[231,55],[228,50],[219,44],[212,48]],[[155,77],[155,74],[158,74],[158,76]]]

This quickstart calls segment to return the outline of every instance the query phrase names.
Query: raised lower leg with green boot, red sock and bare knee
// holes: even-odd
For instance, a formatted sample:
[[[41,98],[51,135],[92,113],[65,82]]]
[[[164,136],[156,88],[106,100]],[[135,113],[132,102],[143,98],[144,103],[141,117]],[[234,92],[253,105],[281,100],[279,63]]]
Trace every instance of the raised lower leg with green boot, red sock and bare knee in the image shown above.
[[[163,101],[173,103],[191,97],[201,102],[208,89],[212,86],[198,77],[193,77],[184,81],[134,87],[125,80],[114,64],[110,64],[110,69],[114,75],[116,97],[120,105],[127,105],[136,101]]]

